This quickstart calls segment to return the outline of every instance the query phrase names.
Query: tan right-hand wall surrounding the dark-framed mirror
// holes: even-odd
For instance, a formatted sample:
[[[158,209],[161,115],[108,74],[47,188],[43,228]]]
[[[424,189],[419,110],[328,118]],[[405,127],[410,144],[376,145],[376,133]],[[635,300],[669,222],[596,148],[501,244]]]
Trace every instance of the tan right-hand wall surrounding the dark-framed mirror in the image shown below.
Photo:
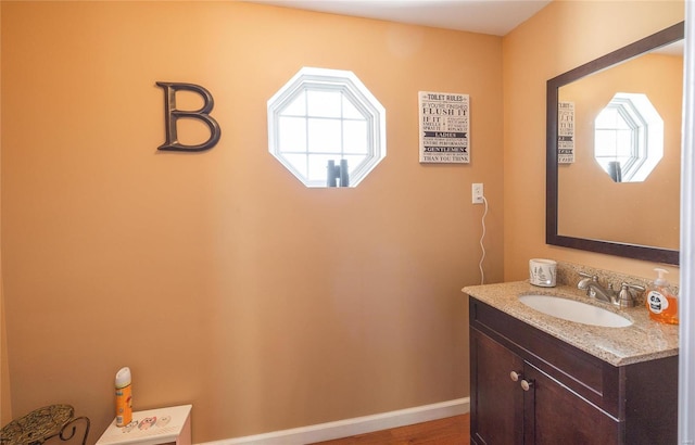
[[[682,21],[683,11],[682,1],[554,1],[504,37],[505,280],[526,278],[532,257],[654,276],[648,262],[545,244],[545,88],[559,74]],[[678,282],[679,269],[668,269]]]

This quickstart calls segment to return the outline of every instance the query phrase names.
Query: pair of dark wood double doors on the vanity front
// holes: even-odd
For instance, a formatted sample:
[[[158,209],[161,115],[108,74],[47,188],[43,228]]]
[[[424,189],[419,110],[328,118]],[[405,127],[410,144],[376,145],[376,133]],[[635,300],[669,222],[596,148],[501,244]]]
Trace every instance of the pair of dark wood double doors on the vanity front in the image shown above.
[[[559,444],[560,438],[567,444],[620,443],[615,419],[476,329],[471,361],[473,357],[472,443]],[[525,390],[522,382],[530,386]]]

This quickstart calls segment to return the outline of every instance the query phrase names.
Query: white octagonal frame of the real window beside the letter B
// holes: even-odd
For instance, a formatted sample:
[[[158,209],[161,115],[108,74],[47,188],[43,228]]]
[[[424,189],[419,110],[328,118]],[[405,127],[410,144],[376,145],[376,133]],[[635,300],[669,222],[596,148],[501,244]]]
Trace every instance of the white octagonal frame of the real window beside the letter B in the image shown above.
[[[306,187],[327,187],[325,179],[316,180],[308,178],[308,171],[304,175],[299,171],[290,161],[285,157],[281,150],[279,118],[282,111],[288,107],[299,96],[306,91],[339,91],[343,100],[348,99],[365,117],[367,122],[367,143],[366,156],[358,165],[350,165],[350,187],[356,187],[387,154],[386,143],[386,110],[354,73],[340,69],[326,69],[315,67],[303,67],[296,73],[280,90],[278,90],[267,103],[268,112],[268,151],[288,170],[290,170]],[[309,116],[305,111],[305,119],[321,116]],[[333,118],[334,119],[334,118]],[[342,123],[349,120],[340,117]],[[306,130],[308,135],[308,129]],[[308,150],[306,142],[306,156],[315,152]],[[340,163],[343,149],[336,155],[336,165]]]

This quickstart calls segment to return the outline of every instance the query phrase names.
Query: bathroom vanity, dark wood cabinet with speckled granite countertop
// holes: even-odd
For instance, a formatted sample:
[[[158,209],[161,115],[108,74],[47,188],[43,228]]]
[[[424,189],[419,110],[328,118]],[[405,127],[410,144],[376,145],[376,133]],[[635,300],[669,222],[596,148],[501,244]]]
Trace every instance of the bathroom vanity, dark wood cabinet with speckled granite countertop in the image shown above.
[[[522,281],[464,292],[470,295],[472,444],[677,443],[677,326],[652,321],[643,307],[620,310],[629,327],[583,325],[518,298],[590,302],[568,285]]]

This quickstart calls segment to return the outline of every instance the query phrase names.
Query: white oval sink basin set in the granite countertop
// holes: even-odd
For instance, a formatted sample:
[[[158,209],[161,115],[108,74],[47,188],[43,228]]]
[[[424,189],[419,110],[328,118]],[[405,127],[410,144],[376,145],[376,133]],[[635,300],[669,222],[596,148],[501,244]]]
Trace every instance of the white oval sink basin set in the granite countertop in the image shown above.
[[[521,295],[519,301],[540,313],[578,323],[605,328],[624,328],[632,325],[627,318],[603,307],[552,295]]]

